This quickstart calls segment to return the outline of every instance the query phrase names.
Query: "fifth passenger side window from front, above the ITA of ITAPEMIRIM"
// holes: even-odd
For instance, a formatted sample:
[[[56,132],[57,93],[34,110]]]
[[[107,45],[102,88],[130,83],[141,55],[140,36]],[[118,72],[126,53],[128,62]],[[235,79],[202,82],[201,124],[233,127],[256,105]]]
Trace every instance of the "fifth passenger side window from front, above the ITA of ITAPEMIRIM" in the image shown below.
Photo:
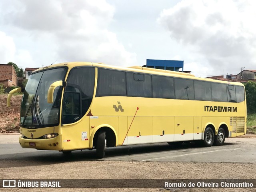
[[[194,81],[195,100],[211,101],[212,89],[210,82]]]

